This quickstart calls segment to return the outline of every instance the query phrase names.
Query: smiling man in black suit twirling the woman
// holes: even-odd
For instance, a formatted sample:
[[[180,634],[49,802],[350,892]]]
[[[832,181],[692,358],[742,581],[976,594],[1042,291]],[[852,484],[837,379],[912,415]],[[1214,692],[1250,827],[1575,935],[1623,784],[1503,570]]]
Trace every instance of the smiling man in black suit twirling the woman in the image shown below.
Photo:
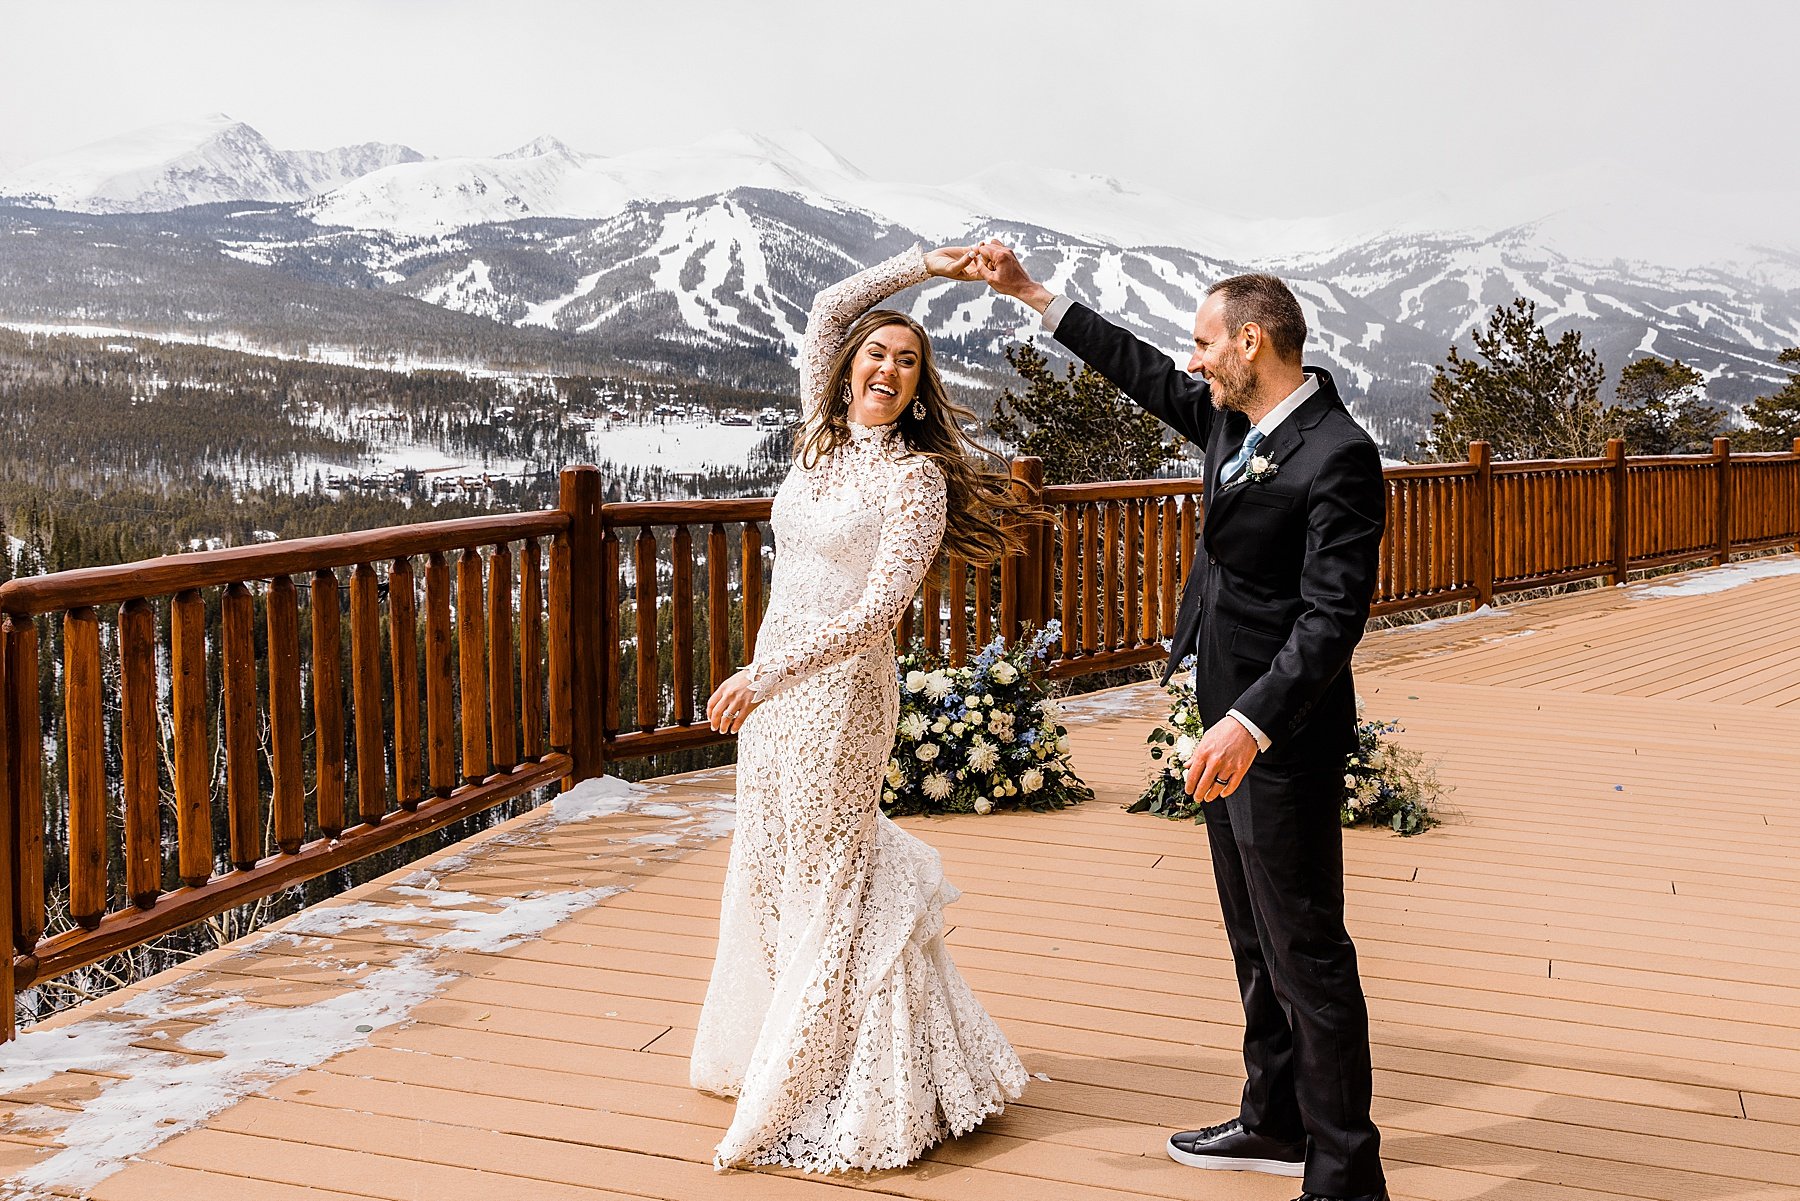
[[[1355,747],[1350,652],[1368,619],[1386,520],[1375,443],[1330,373],[1301,366],[1307,319],[1273,275],[1233,275],[1206,292],[1183,373],[1048,292],[997,241],[981,247],[981,274],[1206,448],[1206,519],[1168,673],[1193,655],[1206,735],[1186,789],[1210,801],[1247,1082],[1237,1118],[1170,1136],[1168,1154],[1190,1167],[1305,1176],[1300,1201],[1384,1201],[1337,817]]]

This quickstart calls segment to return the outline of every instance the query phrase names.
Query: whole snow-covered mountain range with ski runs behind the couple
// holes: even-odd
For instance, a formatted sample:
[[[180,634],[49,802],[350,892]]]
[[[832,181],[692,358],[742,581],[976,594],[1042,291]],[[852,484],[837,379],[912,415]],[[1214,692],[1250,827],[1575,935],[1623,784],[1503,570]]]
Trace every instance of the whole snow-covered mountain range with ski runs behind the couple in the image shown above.
[[[1616,164],[1251,220],[1035,166],[896,184],[801,131],[612,157],[538,137],[495,157],[425,160],[392,146],[275,151],[214,117],[36,164],[0,180],[0,196],[22,182],[61,209],[212,207],[133,218],[137,241],[122,227],[97,239],[99,227],[14,209],[14,236],[0,236],[0,319],[166,313],[189,328],[254,313],[259,328],[304,339],[292,326],[320,312],[311,292],[272,308],[304,281],[355,290],[389,330],[437,328],[428,306],[457,315],[463,340],[479,319],[493,346],[529,344],[535,357],[567,346],[581,360],[599,353],[754,387],[787,387],[821,286],[914,239],[1010,239],[1049,286],[1177,357],[1206,284],[1276,270],[1307,308],[1318,357],[1400,450],[1429,407],[1431,367],[1516,295],[1535,301],[1552,331],[1579,328],[1611,373],[1645,353],[1679,357],[1728,405],[1784,378],[1775,357],[1800,344],[1795,198],[1705,194]],[[218,203],[236,200],[286,203]],[[175,250],[185,265],[167,257]],[[193,254],[220,266],[193,275]],[[243,275],[252,268],[263,275]],[[382,310],[374,297],[414,308]],[[1019,306],[959,284],[898,303],[979,389],[1010,378],[1001,349],[1035,328]]]

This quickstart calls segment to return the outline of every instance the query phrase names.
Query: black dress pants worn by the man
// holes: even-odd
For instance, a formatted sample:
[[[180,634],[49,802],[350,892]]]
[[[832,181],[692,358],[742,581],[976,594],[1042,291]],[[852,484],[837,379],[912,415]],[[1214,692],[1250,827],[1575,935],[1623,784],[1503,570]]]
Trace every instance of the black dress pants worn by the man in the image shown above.
[[[1206,805],[1213,877],[1244,994],[1246,1129],[1307,1142],[1305,1190],[1379,1192],[1368,1005],[1345,931],[1345,758],[1258,756]]]

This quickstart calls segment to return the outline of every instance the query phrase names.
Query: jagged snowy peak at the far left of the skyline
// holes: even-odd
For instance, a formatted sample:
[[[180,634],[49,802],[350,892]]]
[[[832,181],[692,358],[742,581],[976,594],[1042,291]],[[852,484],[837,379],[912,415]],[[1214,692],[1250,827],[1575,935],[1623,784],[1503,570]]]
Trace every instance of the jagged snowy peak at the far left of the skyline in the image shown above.
[[[306,200],[421,155],[364,142],[281,151],[225,113],[135,130],[0,178],[0,196],[81,212],[160,212],[220,200]]]

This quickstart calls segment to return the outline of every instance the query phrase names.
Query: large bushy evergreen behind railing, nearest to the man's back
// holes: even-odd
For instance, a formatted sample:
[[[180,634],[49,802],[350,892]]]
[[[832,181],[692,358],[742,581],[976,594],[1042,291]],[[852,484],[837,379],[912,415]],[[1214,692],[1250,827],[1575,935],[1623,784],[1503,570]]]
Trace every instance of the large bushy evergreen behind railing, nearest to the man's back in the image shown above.
[[[1476,330],[1474,357],[1451,346],[1431,378],[1431,429],[1420,447],[1436,461],[1460,459],[1487,439],[1496,459],[1571,459],[1606,450],[1611,414],[1600,403],[1606,371],[1580,331],[1555,342],[1537,324],[1537,304],[1519,297]]]

